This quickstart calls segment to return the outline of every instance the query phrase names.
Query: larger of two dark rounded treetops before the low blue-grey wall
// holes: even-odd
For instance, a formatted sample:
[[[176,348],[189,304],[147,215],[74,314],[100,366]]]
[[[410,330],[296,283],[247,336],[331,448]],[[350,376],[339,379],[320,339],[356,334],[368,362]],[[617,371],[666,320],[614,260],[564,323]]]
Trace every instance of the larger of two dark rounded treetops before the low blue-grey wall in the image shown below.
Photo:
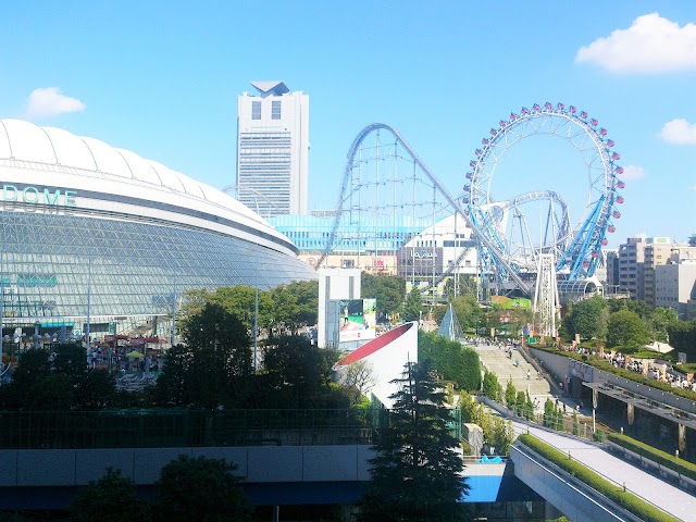
[[[225,459],[181,455],[157,482],[157,511],[167,522],[244,522],[251,520],[237,467]],[[137,519],[133,519],[137,520]]]

